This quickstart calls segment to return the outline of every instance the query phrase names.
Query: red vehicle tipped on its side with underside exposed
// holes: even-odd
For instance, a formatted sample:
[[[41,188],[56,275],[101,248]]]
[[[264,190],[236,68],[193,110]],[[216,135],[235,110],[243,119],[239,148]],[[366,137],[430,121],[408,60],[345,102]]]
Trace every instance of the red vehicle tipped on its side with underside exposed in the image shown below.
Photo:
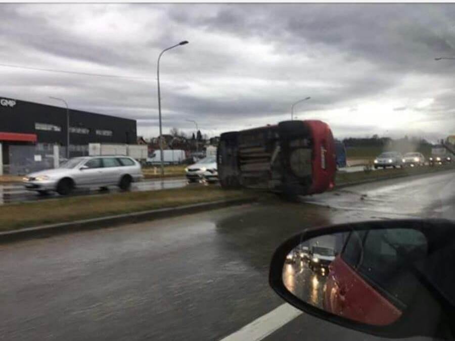
[[[321,193],[335,184],[335,142],[329,125],[318,120],[226,132],[220,136],[217,168],[223,188]]]

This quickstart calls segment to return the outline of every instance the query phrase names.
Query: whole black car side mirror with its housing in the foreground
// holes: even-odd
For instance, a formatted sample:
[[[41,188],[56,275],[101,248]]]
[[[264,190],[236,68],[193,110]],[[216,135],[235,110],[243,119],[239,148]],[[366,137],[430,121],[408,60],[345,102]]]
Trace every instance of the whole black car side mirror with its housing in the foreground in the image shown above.
[[[276,250],[269,284],[294,307],[347,328],[382,337],[434,336],[447,320],[444,330],[453,337],[454,240],[455,223],[446,220],[308,229]],[[299,257],[303,247],[310,257]]]

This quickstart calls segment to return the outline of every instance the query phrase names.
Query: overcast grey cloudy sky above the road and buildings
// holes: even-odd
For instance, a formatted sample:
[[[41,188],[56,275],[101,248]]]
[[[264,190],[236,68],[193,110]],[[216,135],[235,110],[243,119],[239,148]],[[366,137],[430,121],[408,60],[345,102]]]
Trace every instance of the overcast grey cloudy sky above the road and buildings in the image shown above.
[[[335,137],[455,133],[455,5],[1,4],[0,96],[219,134],[290,118]]]

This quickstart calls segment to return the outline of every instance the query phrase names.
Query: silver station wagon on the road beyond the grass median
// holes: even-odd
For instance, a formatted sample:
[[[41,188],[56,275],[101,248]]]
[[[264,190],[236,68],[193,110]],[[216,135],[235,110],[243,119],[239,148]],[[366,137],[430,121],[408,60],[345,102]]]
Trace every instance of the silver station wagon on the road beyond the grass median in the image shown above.
[[[56,191],[69,194],[76,187],[119,186],[129,189],[131,182],[143,178],[139,162],[126,156],[97,156],[69,159],[55,169],[27,174],[23,178],[26,189],[39,193]]]

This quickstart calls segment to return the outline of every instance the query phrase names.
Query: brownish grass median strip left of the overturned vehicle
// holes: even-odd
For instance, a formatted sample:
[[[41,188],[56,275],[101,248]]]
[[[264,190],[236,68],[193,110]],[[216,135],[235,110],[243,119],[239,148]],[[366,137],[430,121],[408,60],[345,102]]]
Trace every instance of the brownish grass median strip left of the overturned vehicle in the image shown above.
[[[0,231],[254,196],[248,191],[195,186],[8,204],[0,206]]]

